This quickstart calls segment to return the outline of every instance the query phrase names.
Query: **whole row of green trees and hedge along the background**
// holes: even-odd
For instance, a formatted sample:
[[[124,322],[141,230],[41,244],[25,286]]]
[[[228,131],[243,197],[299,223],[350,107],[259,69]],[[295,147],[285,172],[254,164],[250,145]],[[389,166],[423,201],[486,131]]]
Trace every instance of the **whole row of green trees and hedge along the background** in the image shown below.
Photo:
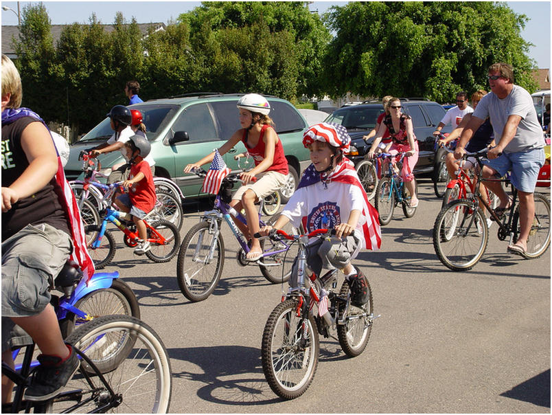
[[[532,91],[525,15],[505,3],[350,2],[323,19],[304,2],[204,2],[144,36],[121,13],[67,25],[54,45],[43,3],[23,8],[15,63],[23,104],[84,133],[136,79],[140,96],[196,91],[301,96],[426,96],[487,87],[487,67],[514,66]],[[331,32],[330,32],[331,31]]]

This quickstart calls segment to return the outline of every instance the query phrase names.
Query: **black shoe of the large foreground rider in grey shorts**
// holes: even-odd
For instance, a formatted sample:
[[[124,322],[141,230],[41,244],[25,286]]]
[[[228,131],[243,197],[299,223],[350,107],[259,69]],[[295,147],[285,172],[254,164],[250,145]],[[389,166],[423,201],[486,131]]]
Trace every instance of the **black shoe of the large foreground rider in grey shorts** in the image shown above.
[[[25,390],[23,398],[27,401],[47,401],[61,392],[80,365],[73,348],[69,344],[67,347],[71,355],[65,361],[59,356],[38,355],[41,365],[34,370],[31,385]]]

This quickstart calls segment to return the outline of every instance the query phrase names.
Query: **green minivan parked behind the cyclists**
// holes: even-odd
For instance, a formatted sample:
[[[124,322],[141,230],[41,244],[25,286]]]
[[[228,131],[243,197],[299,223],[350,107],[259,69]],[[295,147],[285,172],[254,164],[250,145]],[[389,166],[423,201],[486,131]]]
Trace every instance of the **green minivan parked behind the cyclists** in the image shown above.
[[[243,95],[194,93],[129,106],[143,115],[146,135],[152,145],[151,155],[155,160],[154,175],[172,179],[186,198],[207,196],[200,191],[203,179],[184,174],[184,167],[222,146],[240,128],[236,104]],[[307,123],[290,102],[272,96],[266,96],[266,99],[271,104],[270,117],[275,123],[290,166],[288,183],[280,191],[285,203],[297,188],[299,174],[310,164],[309,152],[302,144]],[[112,134],[109,119],[106,118],[71,145],[69,161],[65,166],[68,180],[82,175],[82,161],[78,160],[80,151],[105,142]],[[227,166],[237,170],[238,163],[233,156],[244,151],[244,145],[239,143],[225,154],[223,157]],[[122,156],[119,151],[114,151],[101,155],[99,159],[102,172],[108,174],[111,166],[122,161]]]

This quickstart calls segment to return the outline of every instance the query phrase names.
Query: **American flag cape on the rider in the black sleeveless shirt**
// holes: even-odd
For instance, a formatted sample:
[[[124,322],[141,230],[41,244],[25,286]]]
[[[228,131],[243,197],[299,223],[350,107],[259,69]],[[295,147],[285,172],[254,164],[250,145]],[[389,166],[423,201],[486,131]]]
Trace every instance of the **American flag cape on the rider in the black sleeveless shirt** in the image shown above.
[[[33,117],[35,120],[40,121],[44,124],[46,129],[49,132],[49,128],[44,122],[44,120],[34,111],[28,108],[19,108],[19,109],[5,109],[2,111],[2,124],[10,124],[16,120],[19,120],[21,117]],[[54,139],[52,138],[52,142]],[[54,143],[54,148],[56,147]],[[56,148],[56,153],[58,149]],[[84,224],[82,223],[82,218],[80,217],[80,211],[78,209],[78,203],[71,190],[71,186],[67,183],[65,179],[65,172],[63,171],[63,165],[61,164],[61,159],[58,154],[58,172],[56,173],[56,182],[60,188],[58,193],[58,198],[60,203],[69,218],[69,228],[71,229],[71,241],[73,242],[73,251],[69,256],[69,260],[76,262],[84,276],[87,278],[87,282],[94,275],[94,262],[87,250],[86,237],[84,236]]]

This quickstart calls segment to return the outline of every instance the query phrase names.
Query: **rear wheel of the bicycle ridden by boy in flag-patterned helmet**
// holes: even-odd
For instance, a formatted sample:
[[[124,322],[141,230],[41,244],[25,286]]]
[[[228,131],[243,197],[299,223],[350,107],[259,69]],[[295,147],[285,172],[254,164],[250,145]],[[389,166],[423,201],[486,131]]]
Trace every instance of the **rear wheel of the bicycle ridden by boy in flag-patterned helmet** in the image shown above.
[[[345,319],[345,324],[337,325],[337,337],[343,352],[349,357],[360,355],[366,348],[370,338],[373,318],[373,300],[370,284],[368,284],[367,289],[369,300],[362,307],[349,304],[347,314],[343,315],[345,304],[343,302],[339,303],[339,317]],[[350,292],[349,284],[347,284],[347,281],[343,281],[339,296],[347,298]]]

